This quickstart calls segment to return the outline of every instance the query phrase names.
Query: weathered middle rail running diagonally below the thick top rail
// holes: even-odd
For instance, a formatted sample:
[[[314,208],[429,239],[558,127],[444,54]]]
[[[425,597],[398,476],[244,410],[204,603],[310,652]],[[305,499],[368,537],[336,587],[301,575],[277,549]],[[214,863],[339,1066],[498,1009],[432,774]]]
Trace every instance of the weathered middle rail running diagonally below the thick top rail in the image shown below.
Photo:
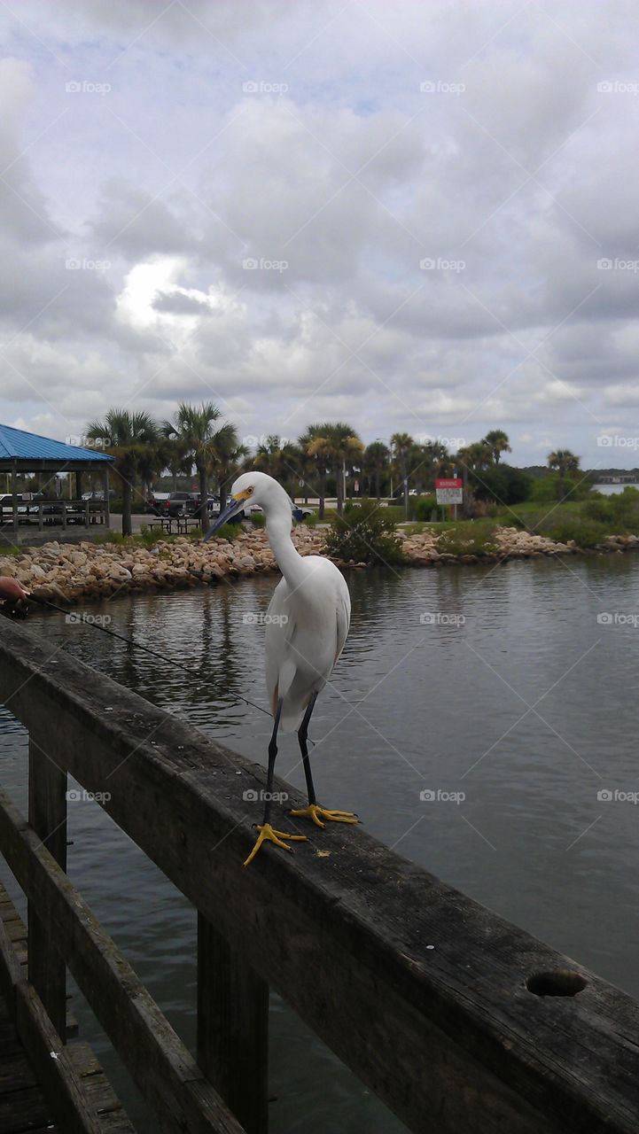
[[[3,793],[0,847],[27,898],[45,914],[60,954],[160,1128],[243,1134],[131,965]]]

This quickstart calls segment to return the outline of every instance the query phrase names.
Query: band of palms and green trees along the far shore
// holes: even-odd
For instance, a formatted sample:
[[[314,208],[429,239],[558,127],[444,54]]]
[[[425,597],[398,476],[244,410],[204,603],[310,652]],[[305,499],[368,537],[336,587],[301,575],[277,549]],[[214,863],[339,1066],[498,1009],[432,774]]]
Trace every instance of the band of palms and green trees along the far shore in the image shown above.
[[[163,422],[144,412],[112,407],[102,420],[87,425],[86,435],[115,457],[125,534],[131,534],[134,500],[145,499],[167,472],[175,489],[179,476],[192,476],[195,471],[204,531],[209,526],[208,492],[217,491],[225,507],[233,480],[245,468],[275,476],[292,497],[317,498],[320,518],[327,497],[333,496],[340,515],[345,499],[353,496],[403,497],[407,509],[409,493],[431,493],[437,477],[454,473],[463,479],[466,507],[472,499],[513,505],[531,493],[541,498],[531,476],[503,462],[504,454],[512,450],[507,434],[499,429],[455,452],[438,440],[420,442],[410,433],[394,433],[388,445],[377,439],[365,446],[347,422],[316,422],[296,441],[274,433],[255,446],[255,439],[241,439],[237,428],[222,418],[212,401],[203,401],[180,403],[173,421]],[[574,491],[579,457],[557,449],[548,456],[548,468],[555,475],[546,492],[552,488],[562,500]]]

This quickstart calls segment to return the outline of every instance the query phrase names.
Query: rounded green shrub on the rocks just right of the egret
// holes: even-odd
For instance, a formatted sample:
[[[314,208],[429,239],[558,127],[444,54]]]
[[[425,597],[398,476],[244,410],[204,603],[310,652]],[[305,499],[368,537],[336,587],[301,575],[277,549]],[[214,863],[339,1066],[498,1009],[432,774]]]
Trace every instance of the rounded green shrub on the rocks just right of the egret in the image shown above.
[[[404,553],[390,508],[377,501],[348,502],[343,516],[335,516],[326,540],[326,550],[335,559],[354,562],[402,562]]]

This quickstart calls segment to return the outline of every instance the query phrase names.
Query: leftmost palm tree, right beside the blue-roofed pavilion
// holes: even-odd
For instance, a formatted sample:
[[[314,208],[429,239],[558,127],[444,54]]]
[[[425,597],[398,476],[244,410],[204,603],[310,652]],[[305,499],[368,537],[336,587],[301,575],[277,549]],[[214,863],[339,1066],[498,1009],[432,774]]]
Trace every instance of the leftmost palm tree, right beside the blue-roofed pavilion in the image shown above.
[[[106,441],[104,451],[115,457],[115,471],[123,489],[123,535],[131,535],[131,510],[136,473],[150,466],[155,472],[162,467],[158,443],[160,430],[150,414],[111,407],[103,421],[90,422],[86,435],[93,441]],[[159,464],[158,464],[159,463]]]

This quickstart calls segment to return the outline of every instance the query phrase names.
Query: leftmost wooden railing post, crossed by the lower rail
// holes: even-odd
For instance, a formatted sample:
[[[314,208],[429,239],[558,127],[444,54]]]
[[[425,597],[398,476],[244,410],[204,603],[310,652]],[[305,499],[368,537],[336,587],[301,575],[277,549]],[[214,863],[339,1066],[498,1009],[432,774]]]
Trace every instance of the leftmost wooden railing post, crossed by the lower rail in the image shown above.
[[[62,870],[67,868],[67,773],[28,738],[28,821]],[[51,925],[28,904],[28,978],[53,1027],[66,1042],[67,971],[53,945]]]

